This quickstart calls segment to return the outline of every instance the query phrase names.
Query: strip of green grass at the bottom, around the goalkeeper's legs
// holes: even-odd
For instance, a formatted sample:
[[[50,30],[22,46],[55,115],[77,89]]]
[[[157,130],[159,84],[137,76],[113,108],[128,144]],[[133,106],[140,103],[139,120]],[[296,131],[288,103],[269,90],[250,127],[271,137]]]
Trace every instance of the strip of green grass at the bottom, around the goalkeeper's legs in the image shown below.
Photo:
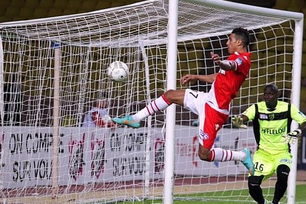
[[[269,189],[264,188],[263,193],[264,195],[270,194],[273,195],[274,188]],[[296,204],[306,204],[306,185],[298,185],[296,186],[296,195],[295,195],[295,203]],[[285,194],[286,195],[286,194]],[[176,197],[176,196],[174,196]],[[177,196],[180,198],[180,200],[174,200],[174,204],[202,204],[202,203],[212,203],[212,204],[239,204],[239,203],[255,203],[252,198],[248,195],[248,190],[235,190],[235,191],[218,191],[218,192],[207,192],[207,193],[198,193],[193,195],[188,195],[188,197],[193,198],[192,200],[183,200],[186,199],[186,196],[179,195]],[[211,197],[211,198],[210,198]],[[214,199],[213,199],[214,198]],[[218,198],[219,200],[216,200]],[[271,201],[273,196],[266,196],[266,199]],[[234,203],[235,202],[235,203]],[[283,198],[281,200],[283,204],[287,203],[287,200]],[[158,204],[163,203],[163,201],[160,199],[147,199],[144,201],[135,201],[135,202],[118,202],[118,204]]]

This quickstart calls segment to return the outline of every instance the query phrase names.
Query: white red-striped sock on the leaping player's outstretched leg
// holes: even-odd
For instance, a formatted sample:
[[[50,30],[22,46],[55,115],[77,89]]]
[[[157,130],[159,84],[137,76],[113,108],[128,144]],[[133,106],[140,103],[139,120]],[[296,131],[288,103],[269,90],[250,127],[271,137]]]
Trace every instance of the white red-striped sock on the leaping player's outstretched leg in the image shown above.
[[[153,115],[158,111],[165,110],[170,105],[170,101],[166,98],[165,94],[163,94],[132,117],[135,121],[139,122],[140,120]]]

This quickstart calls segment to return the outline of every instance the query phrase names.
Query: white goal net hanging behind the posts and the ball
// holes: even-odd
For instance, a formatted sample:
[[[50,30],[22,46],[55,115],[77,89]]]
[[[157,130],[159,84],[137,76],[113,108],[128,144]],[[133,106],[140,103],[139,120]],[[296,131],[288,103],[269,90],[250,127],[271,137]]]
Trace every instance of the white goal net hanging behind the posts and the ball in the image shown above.
[[[242,27],[250,32],[252,67],[231,115],[261,100],[267,83],[279,87],[281,100],[291,101],[296,21],[243,12],[239,4],[226,9],[205,2],[179,1],[177,89],[209,91],[209,84],[182,86],[179,80],[185,74],[218,72],[210,52],[226,59],[227,38],[233,28]],[[101,100],[107,100],[111,117],[121,117],[166,91],[168,4],[152,0],[0,23],[1,202],[162,202],[164,112],[143,120],[139,129],[87,126],[84,120]],[[107,77],[114,61],[129,67],[126,81]],[[241,163],[198,159],[196,119],[176,107],[174,199],[251,203]],[[219,131],[215,147],[254,151],[251,124],[238,130],[230,121]],[[263,183],[270,200],[274,183],[274,177]]]

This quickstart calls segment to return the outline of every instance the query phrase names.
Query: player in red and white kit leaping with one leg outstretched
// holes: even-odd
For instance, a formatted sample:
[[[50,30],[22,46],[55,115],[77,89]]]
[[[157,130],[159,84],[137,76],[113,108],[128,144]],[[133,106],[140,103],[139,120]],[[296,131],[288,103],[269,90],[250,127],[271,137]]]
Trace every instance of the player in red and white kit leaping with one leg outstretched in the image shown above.
[[[181,79],[182,84],[194,80],[212,83],[212,88],[208,93],[191,89],[168,90],[135,115],[112,120],[138,128],[142,119],[157,111],[165,110],[172,103],[184,106],[199,116],[199,158],[209,162],[241,161],[253,175],[254,166],[248,148],[241,151],[212,148],[217,132],[228,118],[232,99],[236,97],[237,91],[248,77],[251,66],[251,54],[247,52],[249,41],[249,33],[246,29],[235,28],[226,42],[230,57],[222,61],[219,55],[211,52],[212,59],[220,67],[218,73],[187,74]]]

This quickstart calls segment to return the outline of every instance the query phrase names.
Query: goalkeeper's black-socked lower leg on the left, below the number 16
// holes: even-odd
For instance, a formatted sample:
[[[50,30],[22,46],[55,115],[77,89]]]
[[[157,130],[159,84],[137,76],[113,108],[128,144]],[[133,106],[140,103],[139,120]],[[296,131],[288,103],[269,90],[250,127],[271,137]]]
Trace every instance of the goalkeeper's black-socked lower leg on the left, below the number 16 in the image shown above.
[[[259,204],[265,203],[265,198],[263,196],[263,190],[260,187],[263,179],[264,179],[264,175],[248,177],[249,194]]]

